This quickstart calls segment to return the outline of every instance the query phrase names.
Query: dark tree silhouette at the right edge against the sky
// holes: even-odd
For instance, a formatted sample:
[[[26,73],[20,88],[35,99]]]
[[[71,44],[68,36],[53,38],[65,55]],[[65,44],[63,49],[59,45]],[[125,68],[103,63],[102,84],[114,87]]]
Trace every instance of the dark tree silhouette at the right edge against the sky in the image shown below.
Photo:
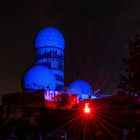
[[[140,94],[140,35],[136,35],[128,46],[128,57],[123,59],[125,73],[118,82],[118,94]]]

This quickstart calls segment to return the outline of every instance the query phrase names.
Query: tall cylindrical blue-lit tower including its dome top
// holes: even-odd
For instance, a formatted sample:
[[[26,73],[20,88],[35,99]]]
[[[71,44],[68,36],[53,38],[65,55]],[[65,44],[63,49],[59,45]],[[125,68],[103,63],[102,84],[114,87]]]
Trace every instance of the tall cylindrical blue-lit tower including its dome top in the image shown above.
[[[36,65],[49,68],[56,78],[56,90],[64,89],[63,34],[54,27],[43,28],[35,38]]]

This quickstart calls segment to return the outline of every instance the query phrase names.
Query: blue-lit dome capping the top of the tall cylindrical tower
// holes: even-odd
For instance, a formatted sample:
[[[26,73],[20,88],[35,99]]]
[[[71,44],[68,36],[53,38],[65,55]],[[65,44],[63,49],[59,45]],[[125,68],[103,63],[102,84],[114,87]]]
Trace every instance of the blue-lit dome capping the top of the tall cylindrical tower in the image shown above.
[[[65,40],[63,34],[54,27],[43,28],[35,38],[35,48],[58,47],[64,50]]]

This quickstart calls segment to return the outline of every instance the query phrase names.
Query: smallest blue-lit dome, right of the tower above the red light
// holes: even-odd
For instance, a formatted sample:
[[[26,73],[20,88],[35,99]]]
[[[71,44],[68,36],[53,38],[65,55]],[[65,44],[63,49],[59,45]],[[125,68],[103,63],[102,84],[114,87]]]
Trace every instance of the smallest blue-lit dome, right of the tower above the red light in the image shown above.
[[[93,93],[93,89],[86,81],[76,80],[70,84],[68,93],[77,94],[81,99],[87,99]]]

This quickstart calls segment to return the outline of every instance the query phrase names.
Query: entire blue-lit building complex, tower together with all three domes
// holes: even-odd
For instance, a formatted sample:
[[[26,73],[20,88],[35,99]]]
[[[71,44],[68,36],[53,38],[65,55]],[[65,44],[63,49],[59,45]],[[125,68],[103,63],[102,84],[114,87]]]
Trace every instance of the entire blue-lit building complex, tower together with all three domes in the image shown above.
[[[46,27],[38,32],[34,43],[35,66],[23,77],[25,91],[46,89],[47,99],[52,99],[57,92],[64,92],[64,48],[65,40],[58,29]],[[93,95],[93,89],[84,80],[76,80],[65,93],[88,99]]]

